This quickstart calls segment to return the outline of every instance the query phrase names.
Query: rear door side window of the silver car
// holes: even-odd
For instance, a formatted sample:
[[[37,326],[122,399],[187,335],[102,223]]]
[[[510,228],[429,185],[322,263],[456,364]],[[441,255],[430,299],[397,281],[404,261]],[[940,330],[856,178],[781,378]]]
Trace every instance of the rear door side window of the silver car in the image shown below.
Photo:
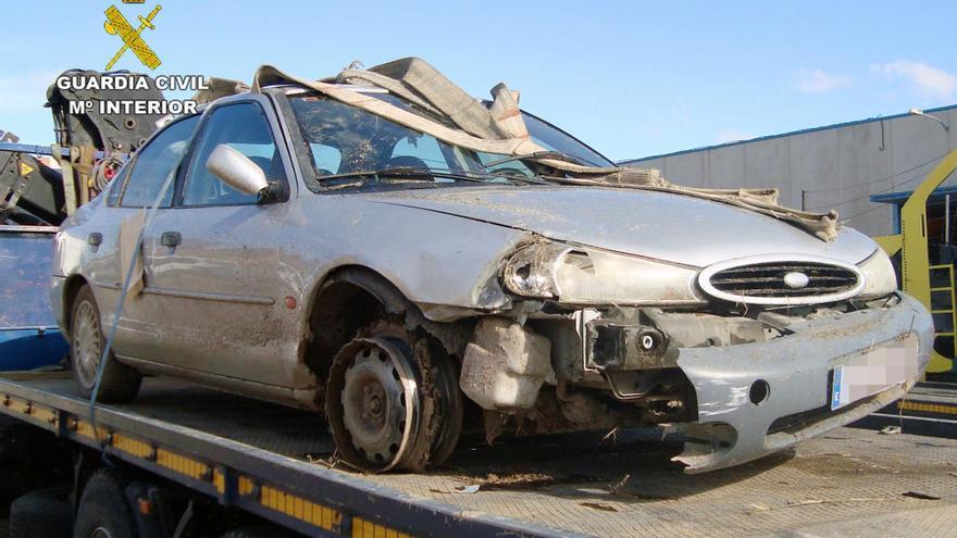
[[[136,161],[130,163],[133,170],[125,173],[129,175],[129,179],[123,187],[120,205],[124,208],[152,205],[166,178],[176,173],[198,122],[199,116],[181,120],[167,126],[139,150]],[[125,166],[125,168],[128,167]],[[169,208],[172,201],[173,185],[171,183],[160,201],[160,207]]]

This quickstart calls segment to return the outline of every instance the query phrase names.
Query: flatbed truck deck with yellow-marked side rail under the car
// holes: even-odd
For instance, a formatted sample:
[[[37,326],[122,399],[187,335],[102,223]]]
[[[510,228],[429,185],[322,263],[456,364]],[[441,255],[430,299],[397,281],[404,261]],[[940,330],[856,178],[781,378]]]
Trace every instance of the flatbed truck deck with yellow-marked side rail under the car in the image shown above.
[[[80,441],[89,425],[87,402],[62,374],[0,377],[0,411],[23,415],[28,401],[29,421]],[[60,414],[48,416],[47,408]],[[99,441],[116,456],[204,484],[225,503],[281,513],[281,522],[316,535],[957,533],[957,440],[947,438],[841,428],[793,451],[696,476],[670,461],[680,446],[661,441],[658,430],[490,447],[467,439],[439,470],[363,475],[335,464],[332,438],[314,414],[185,383],[148,378],[134,403],[98,406],[96,418],[105,431],[94,438],[86,427],[87,445]],[[177,460],[164,451],[194,464],[172,468]]]

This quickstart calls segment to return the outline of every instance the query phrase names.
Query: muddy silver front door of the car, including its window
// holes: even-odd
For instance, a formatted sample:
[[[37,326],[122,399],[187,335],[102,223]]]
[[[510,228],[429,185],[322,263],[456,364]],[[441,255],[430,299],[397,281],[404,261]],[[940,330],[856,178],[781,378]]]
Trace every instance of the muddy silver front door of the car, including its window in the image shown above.
[[[257,203],[206,167],[227,145],[285,186],[291,170],[276,143],[276,118],[265,98],[217,105],[207,113],[176,207],[148,227],[149,287],[165,330],[165,363],[197,372],[289,386],[296,312],[284,305],[301,283],[284,265],[289,204]],[[283,362],[283,358],[290,361]]]

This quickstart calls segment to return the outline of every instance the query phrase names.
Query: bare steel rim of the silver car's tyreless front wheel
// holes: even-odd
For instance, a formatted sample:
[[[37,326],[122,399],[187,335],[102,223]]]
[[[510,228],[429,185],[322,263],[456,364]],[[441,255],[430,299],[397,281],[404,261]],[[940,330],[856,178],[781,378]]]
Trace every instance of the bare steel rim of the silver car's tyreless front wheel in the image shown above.
[[[373,471],[400,464],[415,445],[419,385],[405,348],[385,338],[355,340],[343,372],[341,425],[351,452]]]

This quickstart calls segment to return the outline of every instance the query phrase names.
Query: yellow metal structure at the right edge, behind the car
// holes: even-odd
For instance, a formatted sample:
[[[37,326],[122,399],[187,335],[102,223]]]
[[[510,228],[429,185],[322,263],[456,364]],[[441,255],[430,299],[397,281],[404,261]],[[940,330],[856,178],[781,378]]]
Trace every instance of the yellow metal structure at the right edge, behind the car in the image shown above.
[[[931,266],[928,255],[927,236],[927,202],[934,189],[941,186],[957,170],[957,150],[945,157],[937,166],[921,182],[920,185],[900,208],[900,234],[896,236],[877,237],[875,240],[887,252],[894,255],[900,251],[903,289],[908,295],[931,310],[931,292],[950,291],[950,308],[934,313],[949,313],[957,322],[957,305],[954,302],[954,271],[952,265]],[[931,270],[947,268],[949,271],[949,288],[931,288]],[[957,327],[957,325],[954,325]],[[952,329],[953,330],[953,329]],[[954,333],[937,333],[940,336],[954,336]],[[954,359],[948,359],[936,351],[931,353],[929,373],[949,372],[954,367]]]

